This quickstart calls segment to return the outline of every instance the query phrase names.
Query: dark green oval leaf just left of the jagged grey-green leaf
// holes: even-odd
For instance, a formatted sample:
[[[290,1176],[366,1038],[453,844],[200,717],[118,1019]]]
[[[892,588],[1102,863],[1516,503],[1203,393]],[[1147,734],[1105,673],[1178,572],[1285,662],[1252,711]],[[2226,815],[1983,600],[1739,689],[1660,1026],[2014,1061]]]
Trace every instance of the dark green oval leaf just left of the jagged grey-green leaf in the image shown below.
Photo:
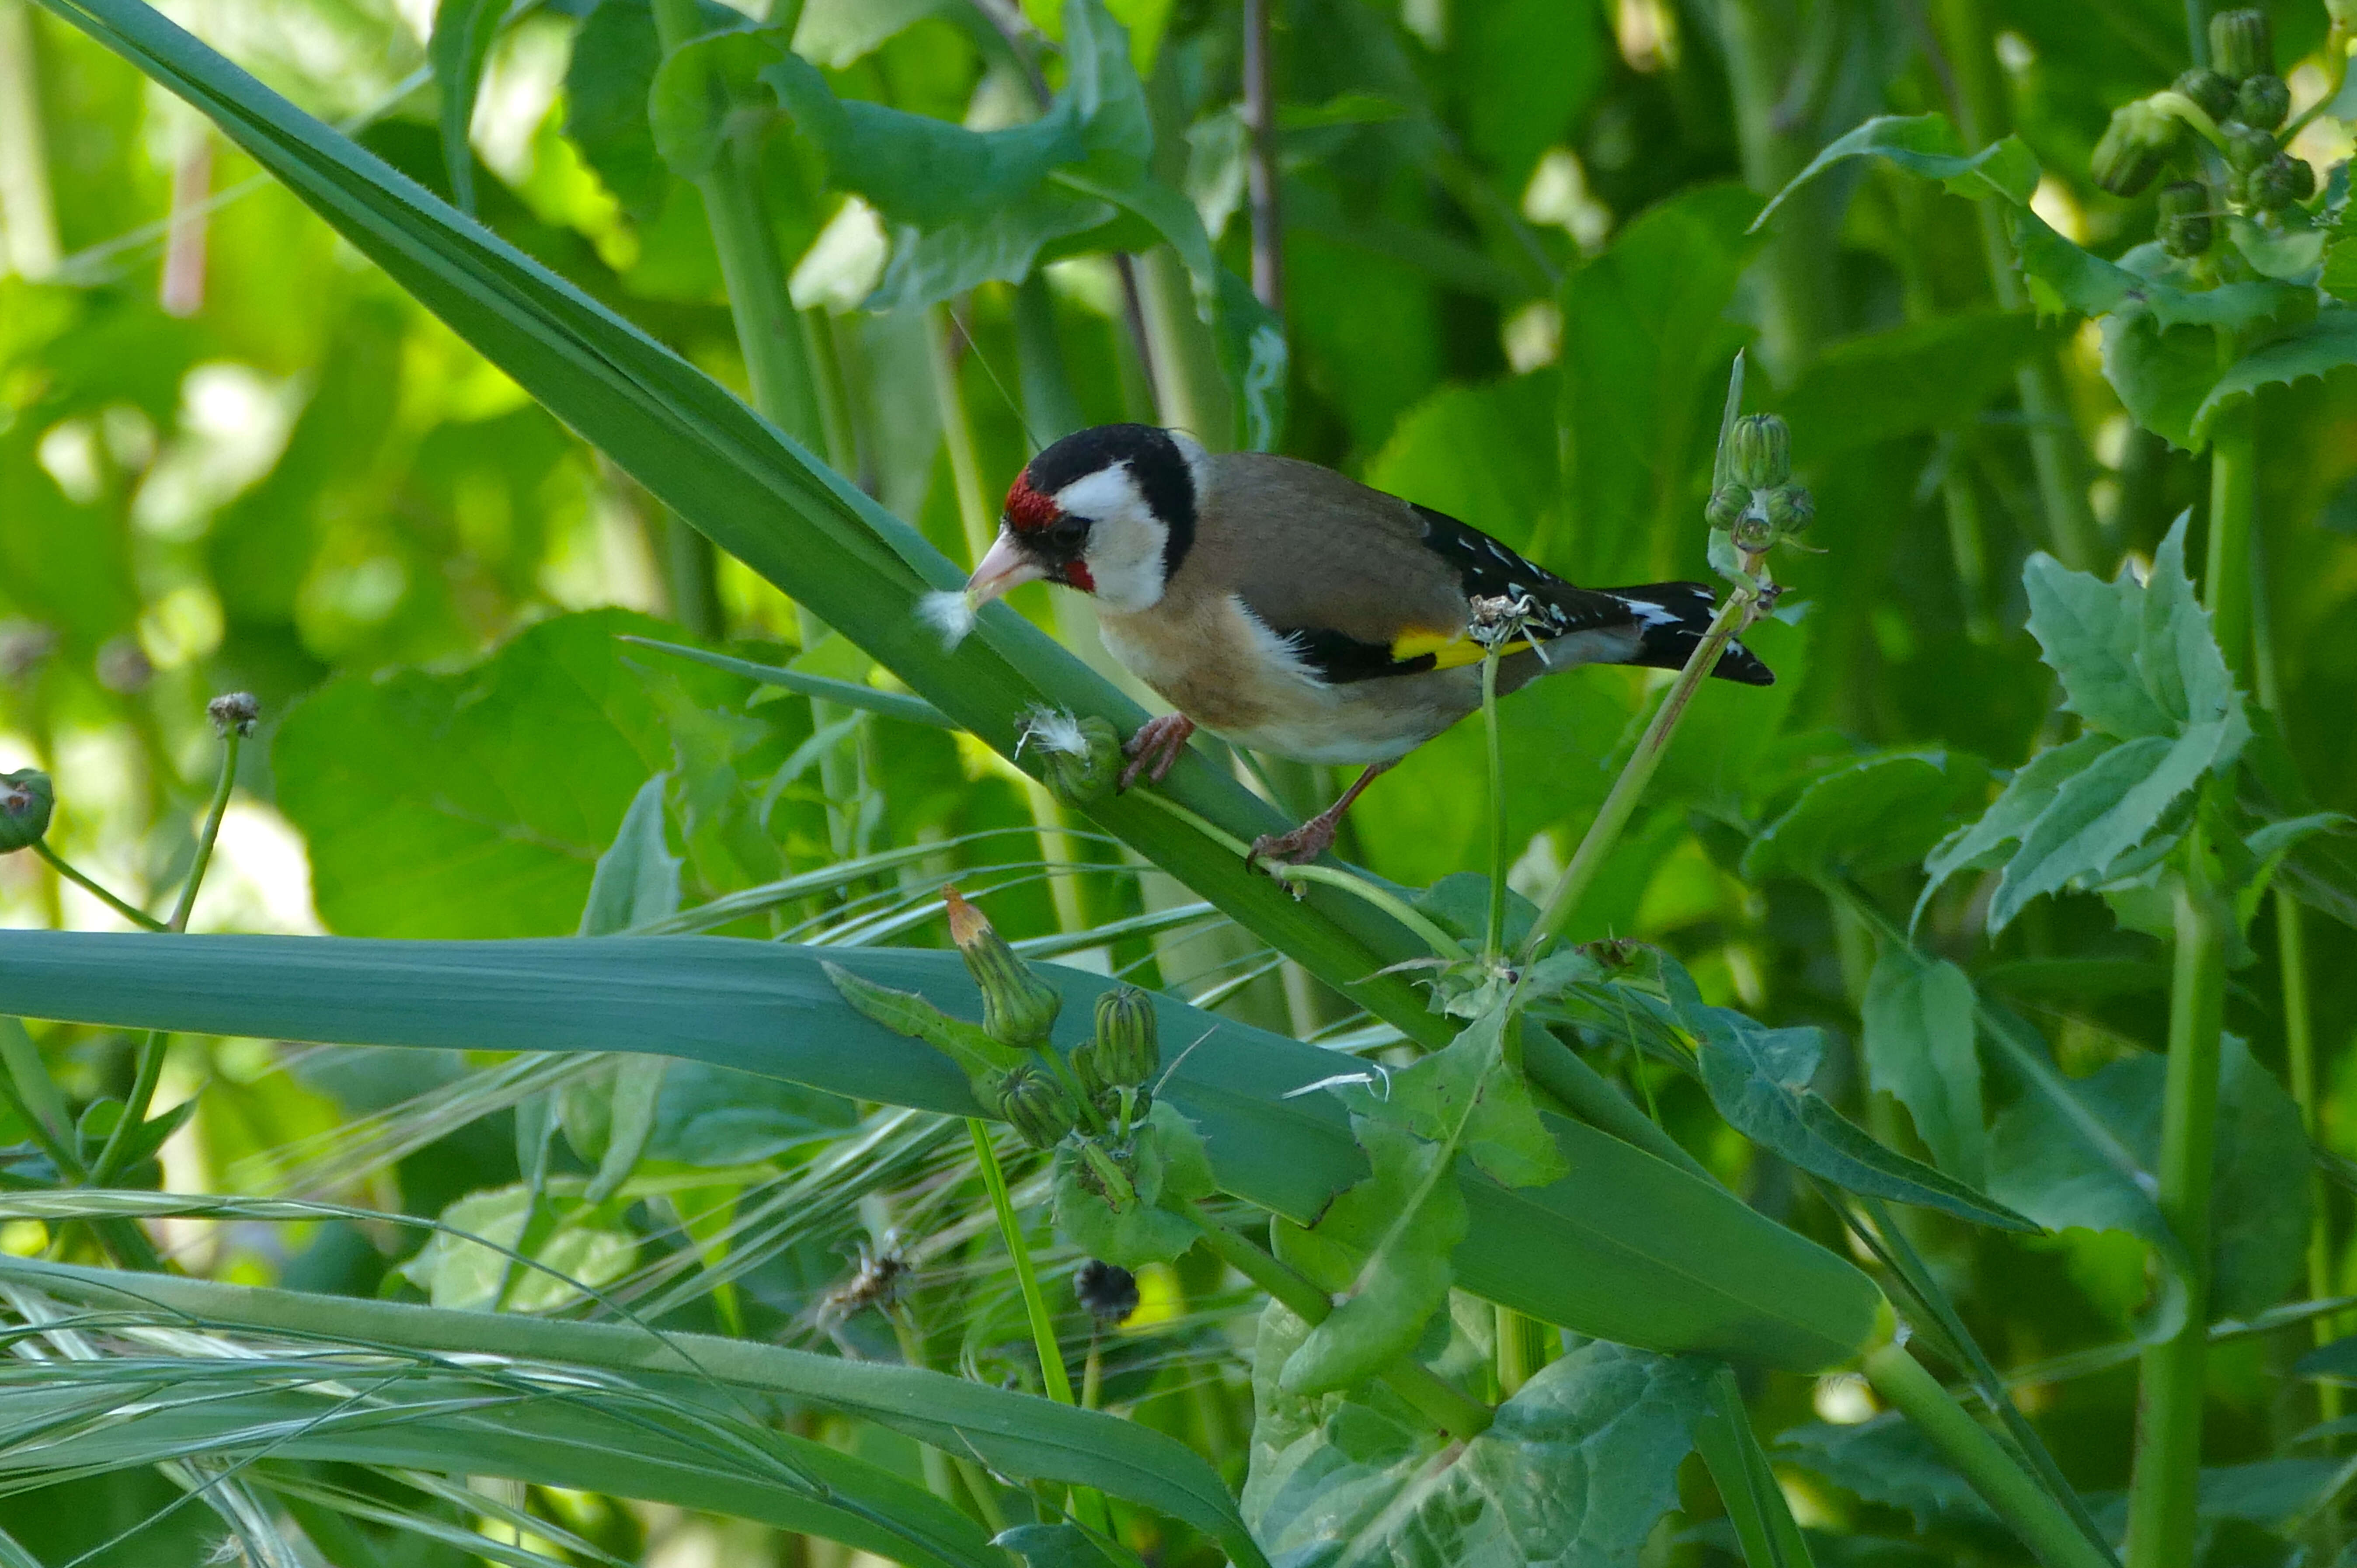
[[[1813,778],[1784,816],[1744,851],[1744,879],[1822,877],[1909,865],[1947,830],[1954,811],[1985,788],[1978,759],[1945,752],[1864,757]]]

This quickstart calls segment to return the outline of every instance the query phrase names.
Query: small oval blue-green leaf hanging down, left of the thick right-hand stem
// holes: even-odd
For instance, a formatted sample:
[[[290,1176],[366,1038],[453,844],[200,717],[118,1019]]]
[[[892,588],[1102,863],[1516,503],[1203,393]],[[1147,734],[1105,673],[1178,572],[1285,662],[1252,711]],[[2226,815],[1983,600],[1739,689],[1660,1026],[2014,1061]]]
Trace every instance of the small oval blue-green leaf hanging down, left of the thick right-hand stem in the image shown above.
[[[1874,962],[1860,1012],[1874,1087],[1907,1106],[1940,1170],[1987,1188],[1989,1132],[1980,1108],[1973,1004],[1973,981],[1963,969],[1890,943]]]

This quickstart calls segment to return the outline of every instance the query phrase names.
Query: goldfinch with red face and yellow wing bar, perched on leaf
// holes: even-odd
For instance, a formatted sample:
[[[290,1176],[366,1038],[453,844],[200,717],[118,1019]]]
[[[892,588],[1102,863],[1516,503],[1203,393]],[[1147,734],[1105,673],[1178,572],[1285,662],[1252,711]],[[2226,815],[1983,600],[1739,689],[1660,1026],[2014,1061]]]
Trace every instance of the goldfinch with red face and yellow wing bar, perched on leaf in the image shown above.
[[[1478,712],[1485,639],[1508,693],[1574,665],[1678,670],[1716,613],[1702,582],[1574,587],[1329,467],[1153,424],[1075,431],[1016,474],[964,608],[1023,582],[1089,594],[1105,651],[1174,710],[1122,745],[1122,790],[1162,783],[1195,729],[1362,766],[1332,806],[1259,837],[1254,865],[1315,861],[1379,773]],[[1739,641],[1714,674],[1775,681]]]

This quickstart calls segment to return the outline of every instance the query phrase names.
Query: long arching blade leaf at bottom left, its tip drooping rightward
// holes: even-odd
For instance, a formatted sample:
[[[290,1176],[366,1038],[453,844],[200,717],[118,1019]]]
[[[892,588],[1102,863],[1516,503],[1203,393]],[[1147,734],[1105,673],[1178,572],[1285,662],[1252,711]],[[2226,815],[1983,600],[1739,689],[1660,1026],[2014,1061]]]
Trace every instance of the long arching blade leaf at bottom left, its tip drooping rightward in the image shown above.
[[[1075,1410],[945,1372],[860,1363],[841,1356],[813,1356],[747,1339],[658,1335],[639,1325],[563,1323],[509,1313],[455,1313],[349,1297],[323,1299],[292,1290],[75,1269],[71,1264],[45,1264],[5,1254],[0,1254],[0,1278],[106,1311],[130,1306],[139,1311],[184,1313],[224,1327],[330,1342],[365,1339],[436,1353],[509,1356],[594,1368],[632,1382],[646,1382],[658,1391],[679,1389],[695,1396],[705,1396],[705,1391],[719,1391],[724,1398],[735,1398],[740,1391],[775,1394],[877,1422],[945,1452],[976,1457],[1009,1476],[1103,1488],[1115,1497],[1129,1497],[1171,1518],[1183,1518],[1219,1540],[1237,1563],[1266,1563],[1237,1518],[1228,1488],[1186,1445],[1136,1422]],[[594,1410],[594,1405],[582,1408]],[[544,1405],[535,1410],[544,1410]],[[806,1462],[818,1462],[832,1452],[825,1445],[813,1443],[813,1448],[818,1448],[818,1455],[806,1457]],[[865,1467],[851,1469],[856,1462],[849,1455],[839,1457],[846,1460],[844,1474],[865,1471]],[[712,1455],[705,1450],[702,1464],[707,1469],[709,1460]],[[424,1469],[438,1467],[436,1460],[417,1464]],[[483,1474],[504,1474],[495,1462],[481,1469]],[[820,1469],[818,1474],[827,1471]],[[552,1481],[552,1485],[625,1490],[608,1488],[601,1481]],[[870,1493],[865,1488],[849,1488],[846,1495],[860,1497]],[[726,1502],[707,1507],[740,1511]],[[919,1518],[924,1509],[912,1509],[905,1516]],[[858,1542],[856,1535],[844,1535],[841,1540]]]

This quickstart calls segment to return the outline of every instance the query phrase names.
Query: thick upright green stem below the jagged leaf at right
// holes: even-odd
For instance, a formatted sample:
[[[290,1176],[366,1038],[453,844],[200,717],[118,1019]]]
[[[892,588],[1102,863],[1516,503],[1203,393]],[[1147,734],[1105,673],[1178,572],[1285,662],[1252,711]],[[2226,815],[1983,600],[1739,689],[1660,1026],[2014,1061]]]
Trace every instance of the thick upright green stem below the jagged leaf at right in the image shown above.
[[[2168,1080],[2161,1089],[2161,1219],[2185,1247],[2185,1325],[2143,1353],[2135,1471],[2128,1481],[2128,1568],[2171,1568],[2194,1537],[2201,1467],[2201,1375],[2209,1358],[2211,1162],[2218,1148],[2218,1030],[2225,1002],[2225,915],[2209,884],[2206,830],[2187,835],[2176,891],[2168,988]]]

